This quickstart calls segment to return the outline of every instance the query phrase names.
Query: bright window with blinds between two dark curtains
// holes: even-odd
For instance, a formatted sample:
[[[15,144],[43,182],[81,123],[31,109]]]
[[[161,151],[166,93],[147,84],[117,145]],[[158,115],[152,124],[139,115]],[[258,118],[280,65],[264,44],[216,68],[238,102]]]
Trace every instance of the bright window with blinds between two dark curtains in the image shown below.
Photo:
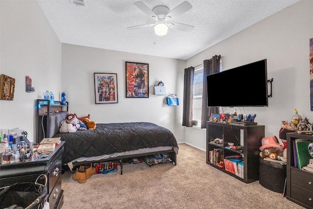
[[[193,117],[192,120],[198,121],[198,125],[201,124],[201,112],[202,112],[202,85],[203,85],[203,64],[195,68],[194,74],[194,90],[193,90]]]

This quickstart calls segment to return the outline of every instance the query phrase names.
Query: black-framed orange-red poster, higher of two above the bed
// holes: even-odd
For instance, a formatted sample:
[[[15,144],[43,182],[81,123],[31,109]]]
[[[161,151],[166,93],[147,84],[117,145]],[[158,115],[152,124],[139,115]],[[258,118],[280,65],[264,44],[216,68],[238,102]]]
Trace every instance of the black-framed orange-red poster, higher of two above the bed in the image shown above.
[[[126,98],[149,98],[149,64],[126,62]]]

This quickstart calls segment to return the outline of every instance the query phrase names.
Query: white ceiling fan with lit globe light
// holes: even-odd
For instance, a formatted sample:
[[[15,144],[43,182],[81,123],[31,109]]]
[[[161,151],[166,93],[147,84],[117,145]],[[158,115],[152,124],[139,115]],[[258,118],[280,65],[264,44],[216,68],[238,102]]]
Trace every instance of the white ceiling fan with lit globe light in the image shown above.
[[[134,2],[134,5],[137,6],[141,11],[146,13],[149,17],[156,20],[156,23],[136,25],[128,27],[128,29],[139,29],[143,27],[155,26],[156,35],[164,36],[167,33],[168,27],[186,32],[190,32],[194,28],[194,26],[188,24],[168,22],[192,8],[192,5],[188,1],[182,2],[172,11],[170,11],[167,6],[156,6],[155,8],[153,8],[153,10],[151,10],[142,1]]]

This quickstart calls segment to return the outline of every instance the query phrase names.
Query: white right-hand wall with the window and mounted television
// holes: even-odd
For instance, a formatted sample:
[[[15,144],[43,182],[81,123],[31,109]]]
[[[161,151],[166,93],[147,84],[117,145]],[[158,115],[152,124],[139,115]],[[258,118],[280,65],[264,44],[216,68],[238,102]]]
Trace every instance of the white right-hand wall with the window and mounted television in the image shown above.
[[[309,41],[313,38],[312,9],[313,1],[302,0],[202,51],[188,59],[186,66],[197,66],[215,54],[223,56],[223,70],[266,58],[268,79],[273,78],[273,97],[268,98],[268,107],[236,109],[237,113],[256,114],[255,121],[265,125],[266,137],[279,137],[281,120],[291,121],[294,109],[302,117],[313,121],[309,68]],[[238,85],[238,82],[224,83],[227,84],[225,88]],[[253,80],[241,85],[251,89],[253,99]],[[224,112],[233,113],[234,109],[224,108]],[[204,142],[201,149],[205,150],[202,130],[185,128],[185,141],[189,144]]]

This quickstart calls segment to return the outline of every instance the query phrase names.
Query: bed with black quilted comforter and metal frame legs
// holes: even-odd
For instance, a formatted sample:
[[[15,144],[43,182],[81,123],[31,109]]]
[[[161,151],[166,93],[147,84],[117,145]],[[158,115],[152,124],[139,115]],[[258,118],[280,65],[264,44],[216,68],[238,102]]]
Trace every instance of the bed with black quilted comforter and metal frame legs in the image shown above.
[[[67,112],[49,116],[51,137],[61,137],[64,144],[62,163],[72,169],[83,163],[117,160],[156,154],[170,155],[177,165],[178,143],[173,133],[151,122],[98,123],[94,130],[77,130],[74,133],[59,133],[59,124]]]

